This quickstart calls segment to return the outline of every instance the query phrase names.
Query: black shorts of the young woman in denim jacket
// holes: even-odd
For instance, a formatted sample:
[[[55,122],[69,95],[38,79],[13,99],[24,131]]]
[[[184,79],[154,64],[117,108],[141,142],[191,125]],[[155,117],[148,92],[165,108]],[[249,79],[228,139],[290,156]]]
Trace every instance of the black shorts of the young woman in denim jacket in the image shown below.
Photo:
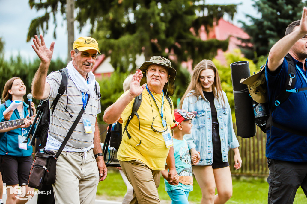
[[[212,145],[213,145],[213,162],[210,166],[212,168],[223,168],[229,166],[228,161],[223,162],[221,152],[221,139],[219,133],[219,123],[212,123]]]

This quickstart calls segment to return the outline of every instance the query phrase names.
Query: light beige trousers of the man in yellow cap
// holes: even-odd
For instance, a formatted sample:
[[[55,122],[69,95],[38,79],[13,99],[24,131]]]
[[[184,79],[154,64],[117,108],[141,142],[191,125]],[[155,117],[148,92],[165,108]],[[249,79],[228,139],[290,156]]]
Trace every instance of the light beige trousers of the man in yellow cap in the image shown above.
[[[53,151],[56,152],[56,151]],[[52,185],[56,204],[94,204],[99,171],[93,150],[62,152],[56,162],[56,182]]]

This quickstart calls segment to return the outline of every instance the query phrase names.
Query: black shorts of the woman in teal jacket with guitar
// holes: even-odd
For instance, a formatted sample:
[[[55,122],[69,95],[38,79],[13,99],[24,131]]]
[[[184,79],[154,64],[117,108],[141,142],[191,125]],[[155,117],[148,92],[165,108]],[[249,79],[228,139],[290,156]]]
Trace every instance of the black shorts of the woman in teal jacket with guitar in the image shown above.
[[[0,172],[3,183],[6,183],[6,185],[26,185],[28,183],[32,161],[32,156],[15,157],[0,155]]]

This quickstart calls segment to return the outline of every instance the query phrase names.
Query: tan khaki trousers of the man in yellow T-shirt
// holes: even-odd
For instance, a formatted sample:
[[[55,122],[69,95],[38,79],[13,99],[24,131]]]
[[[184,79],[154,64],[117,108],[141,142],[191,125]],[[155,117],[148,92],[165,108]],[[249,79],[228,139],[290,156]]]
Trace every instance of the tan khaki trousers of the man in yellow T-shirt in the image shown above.
[[[150,169],[138,160],[119,161],[122,171],[133,187],[133,198],[130,204],[160,203],[158,187],[160,172]]]

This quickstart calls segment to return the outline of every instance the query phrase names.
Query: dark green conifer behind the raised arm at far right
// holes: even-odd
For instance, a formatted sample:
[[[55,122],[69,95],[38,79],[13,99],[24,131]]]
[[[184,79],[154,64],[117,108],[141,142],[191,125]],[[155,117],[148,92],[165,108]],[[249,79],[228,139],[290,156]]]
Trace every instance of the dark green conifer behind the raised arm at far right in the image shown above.
[[[243,47],[242,52],[248,59],[257,59],[257,56],[268,55],[271,47],[285,35],[287,26],[298,19],[301,19],[303,7],[307,1],[304,0],[253,0],[254,7],[259,13],[260,18],[250,18],[252,25],[243,23],[245,32],[251,37],[254,46],[252,49]],[[256,53],[256,56],[255,56]]]

